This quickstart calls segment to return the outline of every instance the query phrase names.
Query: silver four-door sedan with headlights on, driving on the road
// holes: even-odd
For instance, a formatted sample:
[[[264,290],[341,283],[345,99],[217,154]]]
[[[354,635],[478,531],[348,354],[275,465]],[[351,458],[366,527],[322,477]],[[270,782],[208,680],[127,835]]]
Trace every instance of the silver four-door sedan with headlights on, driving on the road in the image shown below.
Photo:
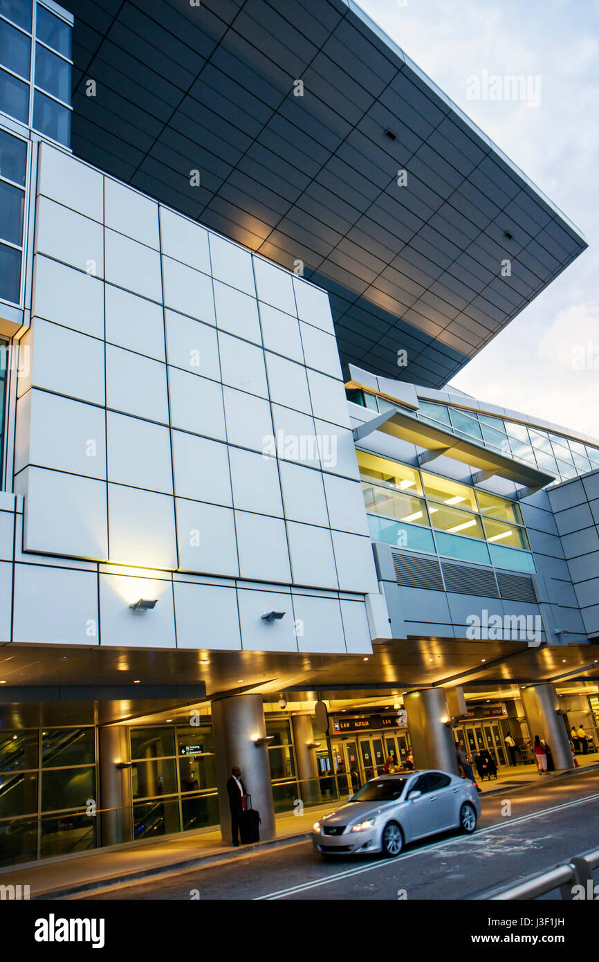
[[[312,827],[322,855],[383,852],[459,828],[470,835],[481,814],[476,786],[449,772],[420,771],[372,778],[335,812]]]

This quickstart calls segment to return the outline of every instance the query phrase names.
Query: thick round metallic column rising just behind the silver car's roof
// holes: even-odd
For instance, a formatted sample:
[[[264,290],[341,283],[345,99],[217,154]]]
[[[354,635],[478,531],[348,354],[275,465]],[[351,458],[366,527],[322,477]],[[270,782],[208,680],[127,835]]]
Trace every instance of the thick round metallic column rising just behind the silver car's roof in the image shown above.
[[[456,743],[442,688],[423,688],[404,695],[410,743],[416,769],[442,769],[458,774]]]

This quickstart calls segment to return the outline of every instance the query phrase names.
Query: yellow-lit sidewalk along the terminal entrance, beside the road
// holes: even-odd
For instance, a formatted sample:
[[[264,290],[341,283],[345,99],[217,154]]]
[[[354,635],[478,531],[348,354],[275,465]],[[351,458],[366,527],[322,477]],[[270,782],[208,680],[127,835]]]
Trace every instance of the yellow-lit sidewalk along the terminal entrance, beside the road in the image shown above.
[[[587,755],[579,759],[580,772],[599,765],[599,756]],[[562,777],[562,772],[543,776],[548,780]],[[483,795],[505,792],[508,787],[520,788],[540,780],[537,765],[518,765],[501,769],[497,779],[481,784]],[[337,802],[338,807],[339,802]],[[303,815],[277,816],[277,836],[267,842],[233,848],[224,845],[220,829],[212,828],[186,835],[166,836],[151,843],[132,842],[125,846],[96,848],[76,855],[28,862],[0,869],[0,885],[29,885],[32,899],[76,898],[100,888],[131,884],[152,875],[184,872],[216,862],[251,858],[268,848],[293,845],[308,837],[312,824],[332,811],[335,802],[308,808]]]

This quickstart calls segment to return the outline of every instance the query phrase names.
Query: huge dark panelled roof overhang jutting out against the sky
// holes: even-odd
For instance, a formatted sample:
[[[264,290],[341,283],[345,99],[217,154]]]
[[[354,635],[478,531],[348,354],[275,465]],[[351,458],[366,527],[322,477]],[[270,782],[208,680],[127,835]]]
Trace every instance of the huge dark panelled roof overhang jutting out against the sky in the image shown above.
[[[75,154],[302,261],[330,291],[343,364],[441,387],[587,246],[353,2],[63,6]]]

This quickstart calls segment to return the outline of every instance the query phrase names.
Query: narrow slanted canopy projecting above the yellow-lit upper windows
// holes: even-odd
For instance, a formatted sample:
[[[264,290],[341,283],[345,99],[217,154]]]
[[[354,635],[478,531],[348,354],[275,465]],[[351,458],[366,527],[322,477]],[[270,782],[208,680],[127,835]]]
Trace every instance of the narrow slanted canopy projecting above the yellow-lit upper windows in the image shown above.
[[[459,437],[451,431],[444,431],[427,421],[418,420],[405,411],[385,411],[364,421],[354,428],[354,441],[361,441],[373,431],[383,431],[394,438],[401,438],[402,441],[424,448],[416,457],[418,466],[445,455],[471,468],[478,468],[473,475],[474,484],[480,484],[494,474],[499,474],[515,484],[522,485],[520,497],[526,497],[555,480],[553,474],[540,471],[524,461],[515,461],[494,448]]]

